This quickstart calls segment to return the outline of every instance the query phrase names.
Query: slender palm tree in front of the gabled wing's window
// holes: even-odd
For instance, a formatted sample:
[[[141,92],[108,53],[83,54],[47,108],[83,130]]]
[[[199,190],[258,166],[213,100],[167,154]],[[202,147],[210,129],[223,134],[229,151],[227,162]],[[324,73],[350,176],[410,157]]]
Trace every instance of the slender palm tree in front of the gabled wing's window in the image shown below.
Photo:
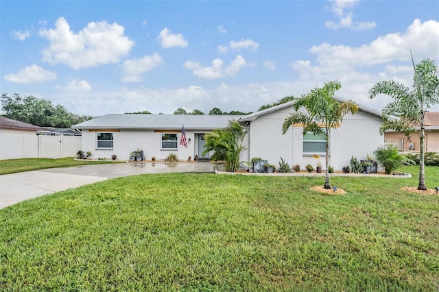
[[[324,84],[322,88],[314,88],[307,95],[302,95],[294,104],[294,110],[282,125],[282,134],[285,134],[289,127],[294,124],[303,126],[303,134],[311,132],[315,135],[324,135],[326,140],[326,171],[324,188],[331,188],[329,185],[329,136],[331,129],[339,127],[343,117],[348,112],[355,114],[358,106],[354,101],[344,102],[333,99],[336,90],[342,88],[338,81],[331,81]],[[298,112],[303,107],[307,114]]]

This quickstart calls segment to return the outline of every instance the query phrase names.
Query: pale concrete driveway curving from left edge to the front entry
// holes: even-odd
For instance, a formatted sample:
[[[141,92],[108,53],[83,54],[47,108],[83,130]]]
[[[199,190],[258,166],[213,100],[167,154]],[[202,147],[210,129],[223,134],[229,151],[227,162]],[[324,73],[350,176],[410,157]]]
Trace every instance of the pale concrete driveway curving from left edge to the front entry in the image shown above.
[[[143,173],[213,172],[214,167],[209,162],[136,162],[82,165],[0,175],[0,209],[40,195],[109,178]]]

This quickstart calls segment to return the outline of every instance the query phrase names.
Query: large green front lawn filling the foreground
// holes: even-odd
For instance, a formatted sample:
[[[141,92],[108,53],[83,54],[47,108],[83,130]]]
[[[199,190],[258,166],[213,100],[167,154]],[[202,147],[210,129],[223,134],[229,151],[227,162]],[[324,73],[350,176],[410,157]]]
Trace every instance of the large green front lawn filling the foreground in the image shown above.
[[[0,210],[1,291],[438,291],[413,178],[137,175]],[[439,168],[427,167],[427,187]]]

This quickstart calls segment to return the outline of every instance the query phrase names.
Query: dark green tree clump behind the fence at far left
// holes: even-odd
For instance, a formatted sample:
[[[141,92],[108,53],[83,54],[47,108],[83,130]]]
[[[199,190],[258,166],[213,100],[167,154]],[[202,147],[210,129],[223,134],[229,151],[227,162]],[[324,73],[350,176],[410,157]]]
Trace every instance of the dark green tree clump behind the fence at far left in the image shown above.
[[[1,95],[3,117],[38,125],[40,127],[71,127],[81,123],[91,116],[80,116],[68,112],[64,106],[54,106],[51,101],[38,99],[32,95],[21,97],[14,93]]]

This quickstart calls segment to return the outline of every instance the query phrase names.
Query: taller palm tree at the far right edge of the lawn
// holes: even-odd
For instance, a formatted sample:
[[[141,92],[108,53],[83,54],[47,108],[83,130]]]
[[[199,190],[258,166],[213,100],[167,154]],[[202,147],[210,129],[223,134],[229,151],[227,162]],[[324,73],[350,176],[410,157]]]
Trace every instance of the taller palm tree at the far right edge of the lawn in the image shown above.
[[[410,55],[412,52],[410,51]],[[374,98],[383,94],[392,97],[393,101],[383,108],[383,124],[379,131],[382,135],[385,130],[395,130],[419,135],[419,184],[418,190],[426,190],[425,186],[425,112],[434,104],[439,104],[439,74],[438,67],[433,60],[424,59],[414,64],[412,88],[394,80],[377,82],[370,90],[369,97]],[[392,119],[399,117],[399,119]],[[415,126],[420,126],[417,132]]]

